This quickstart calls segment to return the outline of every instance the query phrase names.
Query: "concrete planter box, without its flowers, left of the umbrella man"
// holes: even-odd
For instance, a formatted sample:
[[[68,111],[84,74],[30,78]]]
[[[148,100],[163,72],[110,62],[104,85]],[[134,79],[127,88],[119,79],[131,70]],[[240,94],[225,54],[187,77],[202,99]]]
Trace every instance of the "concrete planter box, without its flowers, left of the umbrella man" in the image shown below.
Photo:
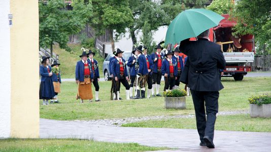
[[[166,109],[186,109],[185,97],[164,97]]]

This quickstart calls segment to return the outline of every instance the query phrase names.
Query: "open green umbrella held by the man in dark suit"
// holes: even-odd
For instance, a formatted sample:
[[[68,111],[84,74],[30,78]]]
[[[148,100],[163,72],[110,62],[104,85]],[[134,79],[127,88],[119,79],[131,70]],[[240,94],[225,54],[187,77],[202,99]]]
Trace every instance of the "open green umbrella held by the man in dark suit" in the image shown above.
[[[205,30],[217,26],[222,19],[224,17],[221,15],[206,9],[185,10],[168,26],[165,45],[196,37]]]

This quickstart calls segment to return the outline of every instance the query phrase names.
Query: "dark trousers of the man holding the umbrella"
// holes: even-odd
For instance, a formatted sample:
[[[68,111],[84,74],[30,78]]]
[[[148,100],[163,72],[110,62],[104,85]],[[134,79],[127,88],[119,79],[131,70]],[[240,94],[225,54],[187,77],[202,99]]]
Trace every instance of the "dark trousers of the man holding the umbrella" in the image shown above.
[[[194,90],[190,91],[192,94],[195,108],[197,132],[199,134],[199,139],[201,142],[204,142],[204,136],[209,136],[213,140],[216,123],[216,113],[218,112],[219,92]]]

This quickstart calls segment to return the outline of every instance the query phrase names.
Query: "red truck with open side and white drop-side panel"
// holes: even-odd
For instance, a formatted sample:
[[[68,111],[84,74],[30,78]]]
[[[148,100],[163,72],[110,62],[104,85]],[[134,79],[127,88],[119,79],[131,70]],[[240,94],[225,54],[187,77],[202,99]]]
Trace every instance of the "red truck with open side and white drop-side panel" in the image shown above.
[[[255,44],[254,35],[247,34],[233,36],[232,27],[235,21],[230,21],[229,15],[222,15],[225,19],[219,25],[210,29],[210,41],[221,45],[221,50],[226,60],[226,67],[222,77],[233,77],[235,81],[242,81],[244,75],[251,71],[251,66],[246,63],[254,61]],[[191,38],[190,41],[195,41]],[[184,54],[180,54],[185,57]]]

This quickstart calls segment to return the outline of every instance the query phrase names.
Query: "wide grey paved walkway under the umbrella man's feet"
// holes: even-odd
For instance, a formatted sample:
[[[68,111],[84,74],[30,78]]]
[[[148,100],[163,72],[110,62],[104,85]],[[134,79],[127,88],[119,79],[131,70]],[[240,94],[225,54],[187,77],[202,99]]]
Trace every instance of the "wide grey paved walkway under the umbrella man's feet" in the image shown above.
[[[182,122],[180,122],[182,123]],[[271,133],[215,131],[215,149],[199,146],[196,130],[132,128],[40,119],[41,138],[83,138],[178,148],[173,151],[271,151]]]

